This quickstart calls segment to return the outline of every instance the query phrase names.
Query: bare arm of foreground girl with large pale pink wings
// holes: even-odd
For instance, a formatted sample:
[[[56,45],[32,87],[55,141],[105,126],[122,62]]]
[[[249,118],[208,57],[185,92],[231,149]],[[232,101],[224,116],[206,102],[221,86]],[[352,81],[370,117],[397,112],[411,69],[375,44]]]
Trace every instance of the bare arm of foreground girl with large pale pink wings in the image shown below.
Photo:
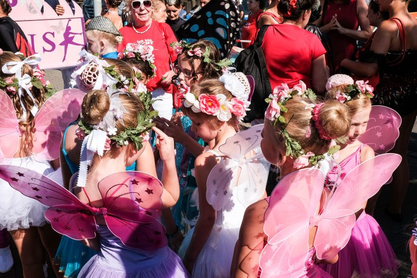
[[[259,256],[263,249],[263,215],[268,208],[266,200],[260,200],[249,206],[243,216],[239,239],[231,266],[231,277],[257,277]]]

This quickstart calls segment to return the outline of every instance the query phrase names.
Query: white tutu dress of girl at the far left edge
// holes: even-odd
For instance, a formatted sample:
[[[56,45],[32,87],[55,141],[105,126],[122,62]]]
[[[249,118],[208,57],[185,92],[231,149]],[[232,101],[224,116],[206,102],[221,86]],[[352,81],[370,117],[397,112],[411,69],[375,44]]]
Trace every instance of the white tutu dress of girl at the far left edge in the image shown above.
[[[53,172],[49,161],[36,161],[33,157],[4,159],[2,165],[20,166],[43,175]],[[39,201],[26,197],[10,187],[9,183],[0,179],[0,229],[9,231],[30,226],[43,226],[47,223],[45,210],[48,208]]]

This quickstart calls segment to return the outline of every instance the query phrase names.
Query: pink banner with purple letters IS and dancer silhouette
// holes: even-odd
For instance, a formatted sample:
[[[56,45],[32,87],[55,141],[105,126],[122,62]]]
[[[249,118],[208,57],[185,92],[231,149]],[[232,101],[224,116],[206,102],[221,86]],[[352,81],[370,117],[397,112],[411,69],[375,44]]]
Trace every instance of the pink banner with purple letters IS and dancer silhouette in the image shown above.
[[[86,45],[83,11],[73,2],[75,13],[65,0],[60,0],[65,13],[57,15],[41,0],[9,0],[9,14],[26,34],[35,53],[42,55],[42,69],[77,65],[79,52]],[[43,7],[43,13],[41,9]]]

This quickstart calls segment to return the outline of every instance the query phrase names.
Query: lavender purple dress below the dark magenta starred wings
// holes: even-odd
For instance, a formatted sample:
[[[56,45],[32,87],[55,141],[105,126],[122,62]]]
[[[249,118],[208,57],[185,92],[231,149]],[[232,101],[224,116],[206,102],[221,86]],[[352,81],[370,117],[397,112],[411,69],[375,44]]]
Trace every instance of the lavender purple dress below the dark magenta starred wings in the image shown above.
[[[168,246],[145,252],[122,244],[106,226],[97,226],[100,252],[81,269],[79,278],[183,278],[188,272]]]

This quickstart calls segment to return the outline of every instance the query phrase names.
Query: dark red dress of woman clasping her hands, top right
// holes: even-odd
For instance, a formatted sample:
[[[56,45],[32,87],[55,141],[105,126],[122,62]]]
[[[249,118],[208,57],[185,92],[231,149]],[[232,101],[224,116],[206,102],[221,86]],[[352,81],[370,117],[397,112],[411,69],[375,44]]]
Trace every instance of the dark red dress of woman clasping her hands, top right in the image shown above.
[[[328,24],[334,14],[337,14],[337,21],[342,27],[351,30],[358,29],[356,0],[350,0],[348,5],[329,1],[323,18],[323,25]],[[337,30],[332,30],[327,35],[332,42],[333,68],[337,70],[343,59],[352,59],[352,55],[356,52],[356,40],[340,34]]]

